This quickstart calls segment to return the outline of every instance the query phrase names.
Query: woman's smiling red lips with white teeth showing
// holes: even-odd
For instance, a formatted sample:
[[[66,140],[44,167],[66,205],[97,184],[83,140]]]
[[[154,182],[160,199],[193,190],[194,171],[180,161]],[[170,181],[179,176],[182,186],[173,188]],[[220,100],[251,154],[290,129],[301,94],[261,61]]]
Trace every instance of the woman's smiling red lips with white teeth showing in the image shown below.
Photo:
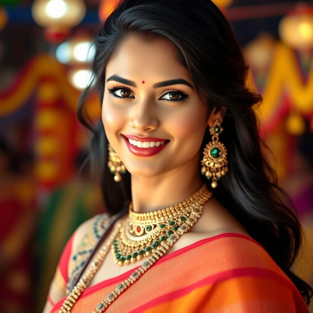
[[[168,139],[156,137],[139,137],[123,135],[127,148],[135,156],[154,156],[170,142]]]

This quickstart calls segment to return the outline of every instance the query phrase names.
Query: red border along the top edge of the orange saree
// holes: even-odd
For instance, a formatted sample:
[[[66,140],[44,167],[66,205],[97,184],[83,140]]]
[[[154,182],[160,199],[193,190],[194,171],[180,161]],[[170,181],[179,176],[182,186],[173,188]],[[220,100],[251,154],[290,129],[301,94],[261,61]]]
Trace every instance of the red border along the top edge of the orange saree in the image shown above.
[[[204,238],[204,239],[201,239],[199,241],[196,241],[195,243],[191,244],[191,245],[188,245],[188,246],[184,246],[174,252],[172,252],[171,254],[168,254],[168,255],[165,255],[164,257],[162,257],[159,261],[156,262],[156,264],[154,264],[154,268],[160,264],[162,264],[163,262],[169,260],[169,259],[172,259],[172,258],[175,258],[193,248],[196,248],[198,246],[201,246],[201,245],[204,245],[206,243],[209,243],[209,242],[212,242],[212,241],[215,241],[215,240],[218,240],[220,238],[225,238],[225,237],[238,237],[238,238],[243,238],[243,239],[246,239],[258,246],[260,246],[264,251],[266,251],[264,249],[263,246],[261,246],[257,241],[255,241],[253,238],[247,236],[247,235],[244,235],[244,234],[240,234],[240,233],[235,233],[235,232],[226,232],[226,233],[222,233],[222,234],[219,234],[219,235],[215,235],[215,236],[212,236],[212,237],[209,237],[209,238]],[[112,278],[109,278],[109,279],[106,279],[102,282],[99,282],[91,287],[88,287],[87,289],[85,289],[82,293],[82,295],[80,296],[80,298],[83,298],[85,296],[88,296],[90,293],[94,292],[94,291],[98,291],[99,289],[101,288],[105,288],[109,285],[112,285],[114,283],[119,283],[123,280],[125,280],[127,277],[129,277],[129,275],[137,268],[140,268],[140,266],[136,266],[130,270],[128,270],[127,272],[123,273],[123,274],[120,274],[118,276],[115,276],[115,277],[112,277]],[[66,299],[66,297],[64,297],[63,299],[61,299],[60,301],[58,301],[55,306],[53,307],[53,309],[51,310],[51,312],[53,312],[58,306],[61,307],[62,303],[64,302],[64,300]]]

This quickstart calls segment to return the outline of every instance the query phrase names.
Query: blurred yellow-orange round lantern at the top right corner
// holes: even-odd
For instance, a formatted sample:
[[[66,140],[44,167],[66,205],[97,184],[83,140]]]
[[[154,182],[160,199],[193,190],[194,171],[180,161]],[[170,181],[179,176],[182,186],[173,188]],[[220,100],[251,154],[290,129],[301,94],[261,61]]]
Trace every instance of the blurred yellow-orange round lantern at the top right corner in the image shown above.
[[[295,49],[313,48],[313,7],[299,3],[278,25],[279,35]]]

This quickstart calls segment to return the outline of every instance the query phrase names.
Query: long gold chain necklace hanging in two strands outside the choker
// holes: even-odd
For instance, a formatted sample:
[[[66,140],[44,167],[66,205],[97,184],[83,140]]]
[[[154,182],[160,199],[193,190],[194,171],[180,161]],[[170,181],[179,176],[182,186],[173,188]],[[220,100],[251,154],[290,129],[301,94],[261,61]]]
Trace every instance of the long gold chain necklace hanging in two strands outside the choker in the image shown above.
[[[182,236],[185,232],[187,232],[194,224],[197,223],[198,219],[201,216],[202,213],[202,205],[204,204],[211,196],[212,193],[206,188],[206,186],[202,186],[200,190],[203,190],[203,195],[199,198],[199,202],[194,200],[193,204],[195,206],[190,212],[190,217],[182,223],[177,230],[175,230],[172,234],[168,236],[168,238],[164,241],[162,241],[156,248],[151,251],[152,254],[149,256],[147,261],[144,261],[140,268],[137,268],[134,270],[134,272],[131,273],[129,278],[125,279],[123,282],[118,284],[116,288],[110,292],[107,297],[97,305],[96,309],[92,313],[101,313],[104,312],[108,306],[127,288],[129,288],[134,282],[143,275],[149,268],[151,268],[157,260],[159,260],[164,254],[170,249],[171,246],[173,246],[177,240]],[[199,191],[200,191],[199,190]],[[199,192],[198,191],[198,192]],[[192,197],[192,196],[191,196]],[[190,198],[190,197],[189,197]],[[188,198],[188,199],[189,199]],[[187,202],[187,199],[185,201]],[[165,211],[167,212],[167,209]],[[161,210],[162,211],[162,210]],[[156,212],[156,214],[155,214]],[[151,212],[153,215],[158,215],[158,211]],[[134,214],[148,214],[148,213],[135,213]],[[72,291],[68,294],[66,300],[63,302],[62,307],[59,311],[59,313],[69,313],[72,309],[72,307],[77,302],[78,298],[82,294],[82,292],[89,286],[93,276],[98,271],[98,269],[101,267],[106,255],[109,252],[110,246],[112,246],[114,238],[118,235],[119,229],[122,227],[122,224],[117,224],[117,229],[112,232],[110,235],[107,243],[100,249],[100,252],[97,254],[97,256],[93,259],[91,262],[89,268],[87,269],[86,273],[83,275],[83,277],[79,280],[79,282],[76,284],[76,286],[72,289]]]

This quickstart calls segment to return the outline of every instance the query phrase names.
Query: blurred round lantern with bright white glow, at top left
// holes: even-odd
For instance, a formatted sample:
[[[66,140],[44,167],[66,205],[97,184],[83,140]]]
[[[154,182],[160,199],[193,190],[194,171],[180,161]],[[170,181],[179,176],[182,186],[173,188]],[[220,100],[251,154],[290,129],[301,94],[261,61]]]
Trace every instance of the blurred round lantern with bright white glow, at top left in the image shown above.
[[[71,28],[79,24],[86,14],[83,0],[35,0],[32,16],[43,27]]]

